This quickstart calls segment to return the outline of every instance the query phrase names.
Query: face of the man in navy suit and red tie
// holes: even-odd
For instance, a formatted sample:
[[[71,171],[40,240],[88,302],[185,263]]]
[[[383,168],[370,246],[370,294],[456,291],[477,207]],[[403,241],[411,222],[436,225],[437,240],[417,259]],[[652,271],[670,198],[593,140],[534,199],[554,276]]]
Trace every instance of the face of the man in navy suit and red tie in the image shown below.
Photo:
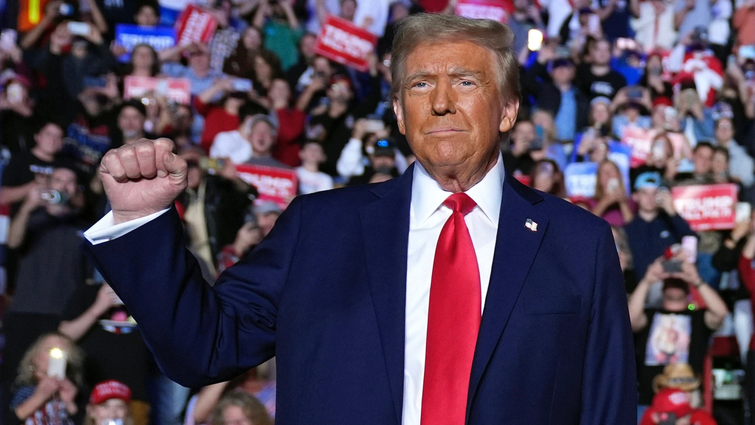
[[[431,174],[484,168],[513,127],[519,103],[504,102],[496,69],[492,51],[469,41],[423,43],[406,57],[393,110]]]

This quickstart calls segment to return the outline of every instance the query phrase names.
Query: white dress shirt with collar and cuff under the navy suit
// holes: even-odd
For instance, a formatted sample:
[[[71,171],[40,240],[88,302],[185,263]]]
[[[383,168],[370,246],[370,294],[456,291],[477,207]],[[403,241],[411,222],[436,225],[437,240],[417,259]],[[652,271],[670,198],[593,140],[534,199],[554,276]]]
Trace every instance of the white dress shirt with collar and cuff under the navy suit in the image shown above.
[[[430,280],[440,231],[448,217],[451,217],[451,209],[442,204],[452,192],[441,189],[438,182],[427,174],[419,162],[414,164],[406,264],[403,425],[420,425]],[[466,192],[477,204],[464,220],[472,237],[479,266],[481,308],[485,306],[485,295],[488,292],[493,265],[504,175],[504,161],[499,154],[496,165]],[[136,229],[165,211],[168,210],[115,226],[111,211],[91,226],[84,236],[93,244],[106,242]]]

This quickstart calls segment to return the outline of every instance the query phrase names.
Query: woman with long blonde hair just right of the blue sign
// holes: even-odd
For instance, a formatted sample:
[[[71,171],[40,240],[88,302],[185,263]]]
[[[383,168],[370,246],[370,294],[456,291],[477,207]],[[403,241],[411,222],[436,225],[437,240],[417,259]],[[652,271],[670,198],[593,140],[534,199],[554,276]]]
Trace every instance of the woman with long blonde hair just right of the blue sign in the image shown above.
[[[590,200],[590,211],[612,226],[621,227],[634,218],[631,202],[618,165],[609,159],[600,162],[595,179],[595,197]]]

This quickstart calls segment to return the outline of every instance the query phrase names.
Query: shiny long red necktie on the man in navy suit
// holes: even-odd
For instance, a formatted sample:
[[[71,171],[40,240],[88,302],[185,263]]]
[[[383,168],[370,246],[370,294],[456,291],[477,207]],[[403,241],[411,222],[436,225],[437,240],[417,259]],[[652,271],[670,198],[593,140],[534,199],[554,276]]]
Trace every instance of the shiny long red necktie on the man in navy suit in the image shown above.
[[[454,193],[443,205],[453,213],[435,248],[421,425],[464,425],[481,315],[479,266],[464,222],[476,203],[466,193]]]

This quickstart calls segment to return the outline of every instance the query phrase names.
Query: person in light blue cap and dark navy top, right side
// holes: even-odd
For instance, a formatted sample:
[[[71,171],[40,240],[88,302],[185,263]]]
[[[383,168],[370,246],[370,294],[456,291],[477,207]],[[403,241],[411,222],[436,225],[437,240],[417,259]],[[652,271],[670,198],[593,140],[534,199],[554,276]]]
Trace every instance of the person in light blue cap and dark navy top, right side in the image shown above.
[[[634,220],[624,226],[634,256],[637,276],[643,276],[656,258],[683,236],[695,236],[689,224],[676,214],[669,190],[661,188],[661,174],[648,171],[634,180]]]

